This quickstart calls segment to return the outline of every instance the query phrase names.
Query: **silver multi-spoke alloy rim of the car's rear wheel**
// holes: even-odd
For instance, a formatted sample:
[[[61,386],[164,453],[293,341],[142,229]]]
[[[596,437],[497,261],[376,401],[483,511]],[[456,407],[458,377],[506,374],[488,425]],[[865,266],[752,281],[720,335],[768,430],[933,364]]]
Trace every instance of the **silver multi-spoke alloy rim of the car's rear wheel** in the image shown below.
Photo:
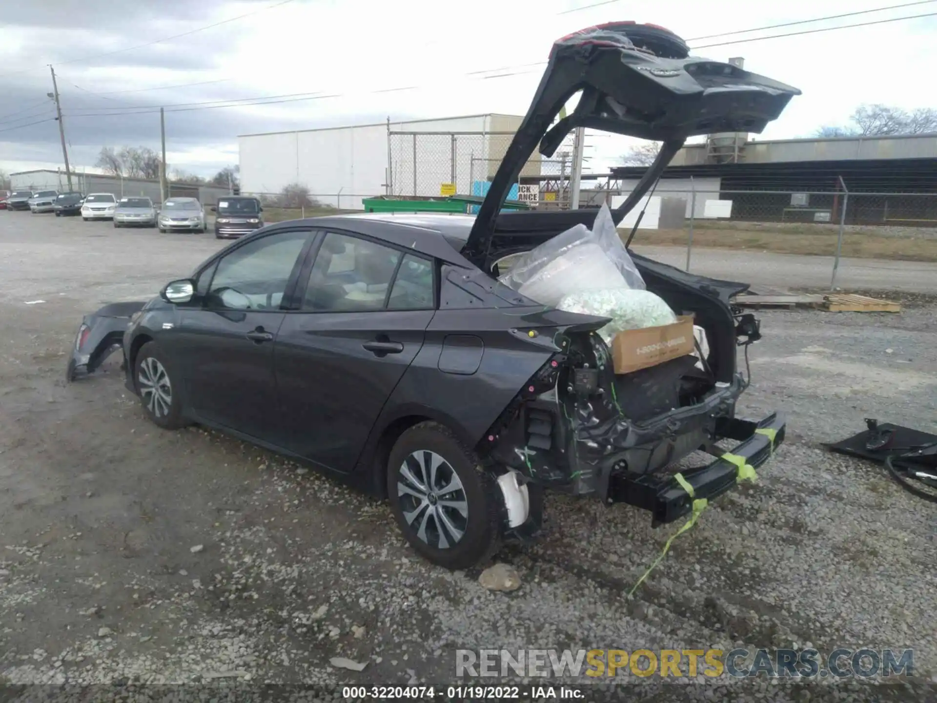
[[[429,546],[448,549],[465,536],[468,499],[453,467],[436,452],[411,453],[397,470],[397,496],[410,529]]]

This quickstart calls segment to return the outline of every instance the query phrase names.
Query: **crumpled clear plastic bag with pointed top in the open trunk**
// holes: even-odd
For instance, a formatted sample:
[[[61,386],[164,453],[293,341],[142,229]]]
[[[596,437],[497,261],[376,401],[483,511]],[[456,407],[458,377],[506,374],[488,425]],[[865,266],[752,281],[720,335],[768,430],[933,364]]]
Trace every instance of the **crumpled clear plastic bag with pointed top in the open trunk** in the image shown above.
[[[558,234],[518,257],[498,280],[551,307],[571,293],[646,288],[618,237],[608,205],[602,205],[591,230],[579,224]]]

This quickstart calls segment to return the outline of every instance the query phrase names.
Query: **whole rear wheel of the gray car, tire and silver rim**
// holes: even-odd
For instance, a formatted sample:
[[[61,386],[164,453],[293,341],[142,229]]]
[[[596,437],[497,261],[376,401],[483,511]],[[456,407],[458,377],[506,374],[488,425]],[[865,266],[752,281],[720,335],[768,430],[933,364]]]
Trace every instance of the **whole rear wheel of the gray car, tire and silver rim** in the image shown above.
[[[424,422],[394,444],[387,493],[400,531],[447,569],[487,561],[500,546],[503,500],[495,477],[446,426]]]

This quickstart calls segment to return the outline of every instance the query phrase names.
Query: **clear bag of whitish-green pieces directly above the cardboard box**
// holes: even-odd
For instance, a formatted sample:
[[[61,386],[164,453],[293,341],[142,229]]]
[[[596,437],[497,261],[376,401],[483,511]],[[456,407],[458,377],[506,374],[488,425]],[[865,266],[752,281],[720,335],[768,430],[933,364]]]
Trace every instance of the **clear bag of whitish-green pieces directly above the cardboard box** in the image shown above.
[[[674,311],[661,296],[629,288],[570,293],[559,301],[557,307],[567,312],[612,318],[612,322],[598,330],[606,344],[611,344],[612,338],[624,330],[660,327],[677,322]]]

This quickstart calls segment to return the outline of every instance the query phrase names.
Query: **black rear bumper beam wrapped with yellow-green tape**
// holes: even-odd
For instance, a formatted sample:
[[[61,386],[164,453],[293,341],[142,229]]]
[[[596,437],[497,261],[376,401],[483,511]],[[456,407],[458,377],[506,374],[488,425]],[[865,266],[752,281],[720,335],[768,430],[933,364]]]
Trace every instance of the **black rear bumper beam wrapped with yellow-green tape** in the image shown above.
[[[784,419],[777,412],[773,412],[757,421],[722,418],[717,434],[725,439],[739,441],[729,453],[741,456],[747,464],[757,468],[764,464],[784,441],[785,428]],[[769,439],[769,435],[773,435],[773,441]],[[736,486],[737,473],[736,464],[723,458],[717,458],[705,467],[681,471],[681,475],[693,487],[693,497],[708,500],[721,496]],[[652,524],[655,526],[688,515],[692,510],[693,497],[670,475],[632,478],[624,474],[613,474],[608,486],[609,501],[624,502],[649,510],[653,517]]]

